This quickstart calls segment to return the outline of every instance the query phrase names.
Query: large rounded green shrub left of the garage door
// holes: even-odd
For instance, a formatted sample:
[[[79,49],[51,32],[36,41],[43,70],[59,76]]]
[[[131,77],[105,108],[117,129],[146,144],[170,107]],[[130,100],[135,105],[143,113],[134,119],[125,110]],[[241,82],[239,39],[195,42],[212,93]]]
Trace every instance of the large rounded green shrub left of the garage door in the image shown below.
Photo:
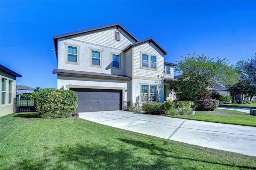
[[[42,114],[76,110],[78,102],[76,92],[54,88],[33,92],[31,98],[36,102],[36,110]]]

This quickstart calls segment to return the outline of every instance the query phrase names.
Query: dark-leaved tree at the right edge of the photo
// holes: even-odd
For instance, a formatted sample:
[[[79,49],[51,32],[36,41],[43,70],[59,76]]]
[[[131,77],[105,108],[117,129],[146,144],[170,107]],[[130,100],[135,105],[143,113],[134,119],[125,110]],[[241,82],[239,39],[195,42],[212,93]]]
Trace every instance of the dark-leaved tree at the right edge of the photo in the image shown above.
[[[246,96],[256,96],[256,52],[248,60],[240,60],[236,64],[241,81],[233,86],[227,86],[232,95],[245,94]]]

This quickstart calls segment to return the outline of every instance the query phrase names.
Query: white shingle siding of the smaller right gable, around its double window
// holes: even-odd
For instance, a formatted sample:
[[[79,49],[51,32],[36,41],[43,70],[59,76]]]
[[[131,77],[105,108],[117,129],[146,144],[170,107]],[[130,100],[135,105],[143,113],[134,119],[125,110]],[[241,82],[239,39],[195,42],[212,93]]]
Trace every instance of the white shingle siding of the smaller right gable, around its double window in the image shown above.
[[[164,70],[164,55],[160,52],[156,47],[152,44],[146,43],[140,46],[136,46],[133,48],[133,57],[134,57],[134,76],[142,76],[142,77],[150,77],[150,78],[158,78],[158,76],[163,76]],[[141,68],[141,52],[154,54],[157,57],[157,70],[149,70]],[[150,56],[149,56],[150,57]],[[150,63],[149,63],[150,65]]]

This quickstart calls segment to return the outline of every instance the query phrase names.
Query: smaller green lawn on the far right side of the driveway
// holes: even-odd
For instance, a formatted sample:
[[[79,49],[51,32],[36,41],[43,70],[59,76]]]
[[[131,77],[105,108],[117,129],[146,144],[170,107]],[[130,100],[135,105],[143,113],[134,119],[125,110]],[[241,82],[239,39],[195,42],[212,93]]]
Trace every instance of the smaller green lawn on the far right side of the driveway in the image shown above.
[[[207,122],[256,126],[256,116],[252,116],[249,113],[239,112],[235,110],[215,109],[215,111],[211,112],[196,111],[196,114],[193,115],[170,117],[201,120]]]

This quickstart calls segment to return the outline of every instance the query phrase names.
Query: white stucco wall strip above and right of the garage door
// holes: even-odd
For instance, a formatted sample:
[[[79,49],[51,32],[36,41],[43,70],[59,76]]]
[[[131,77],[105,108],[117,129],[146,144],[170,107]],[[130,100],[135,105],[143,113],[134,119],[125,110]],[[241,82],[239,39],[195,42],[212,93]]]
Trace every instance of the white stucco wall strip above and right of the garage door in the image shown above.
[[[123,101],[130,101],[130,80],[113,80],[113,79],[97,79],[82,78],[77,76],[60,76],[58,75],[57,88],[93,88],[93,89],[119,89],[123,90]]]

